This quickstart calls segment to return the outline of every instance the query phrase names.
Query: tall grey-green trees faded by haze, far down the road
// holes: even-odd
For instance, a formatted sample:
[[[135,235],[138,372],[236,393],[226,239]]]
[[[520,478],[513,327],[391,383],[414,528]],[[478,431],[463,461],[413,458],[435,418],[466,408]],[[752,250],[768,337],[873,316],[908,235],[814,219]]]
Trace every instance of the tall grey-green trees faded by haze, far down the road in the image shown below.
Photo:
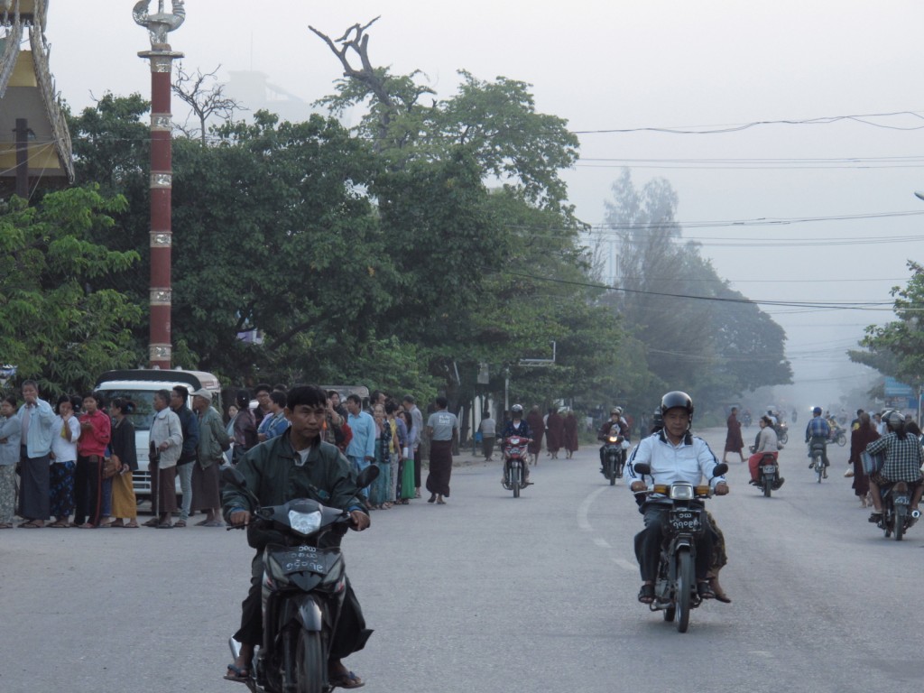
[[[606,221],[618,239],[615,307],[644,345],[655,382],[707,403],[789,383],[784,330],[731,290],[698,244],[684,242],[670,184],[659,178],[638,189],[624,170],[613,195]]]

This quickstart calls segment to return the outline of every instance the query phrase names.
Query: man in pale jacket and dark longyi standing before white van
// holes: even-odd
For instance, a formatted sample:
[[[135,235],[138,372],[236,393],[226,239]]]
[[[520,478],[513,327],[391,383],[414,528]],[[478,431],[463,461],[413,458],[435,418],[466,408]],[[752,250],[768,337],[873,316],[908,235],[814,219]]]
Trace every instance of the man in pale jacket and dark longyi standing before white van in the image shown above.
[[[183,426],[170,408],[170,399],[169,390],[154,393],[151,456],[157,457],[157,483],[152,478],[151,493],[156,495],[157,515],[144,524],[157,529],[173,528],[170,516],[176,510],[176,460],[183,452]]]

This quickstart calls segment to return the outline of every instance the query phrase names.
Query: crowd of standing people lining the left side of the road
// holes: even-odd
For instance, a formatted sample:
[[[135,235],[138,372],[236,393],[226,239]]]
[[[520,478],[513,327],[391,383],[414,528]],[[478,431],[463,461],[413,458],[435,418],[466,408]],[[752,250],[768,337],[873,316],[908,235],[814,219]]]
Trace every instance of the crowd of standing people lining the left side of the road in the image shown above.
[[[368,407],[359,395],[343,402],[335,390],[327,395],[324,440],[357,472],[370,464],[380,468],[364,490],[371,509],[408,505],[421,497],[421,486],[429,503],[445,505],[459,423],[444,397],[436,398],[425,422],[412,395],[398,401],[374,392]],[[204,388],[189,392],[180,385],[153,395],[152,518],[145,526],[183,528],[197,513],[197,525],[225,526],[220,469],[289,427],[285,386],[259,384],[252,396],[255,407],[251,391],[238,390],[223,416]],[[132,482],[139,469],[130,419],[135,407],[121,398],[106,402],[96,392],[62,395],[53,404],[31,380],[22,383],[20,397],[6,395],[0,405],[0,529],[140,527]],[[421,444],[429,447],[430,460],[423,485]],[[22,518],[18,525],[16,517]]]

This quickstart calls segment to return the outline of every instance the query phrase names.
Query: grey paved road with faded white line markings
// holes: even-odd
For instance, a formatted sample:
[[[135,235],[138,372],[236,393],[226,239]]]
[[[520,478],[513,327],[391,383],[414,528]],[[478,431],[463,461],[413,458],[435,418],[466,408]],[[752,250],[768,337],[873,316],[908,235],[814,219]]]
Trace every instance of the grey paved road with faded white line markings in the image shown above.
[[[703,435],[722,450],[723,431]],[[376,629],[348,663],[371,693],[919,691],[924,526],[886,541],[846,456],[832,449],[819,485],[792,442],[771,499],[733,465],[710,507],[734,603],[703,605],[684,635],[636,602],[640,517],[595,449],[542,457],[517,500],[497,464],[456,468],[447,505],[378,511],[348,536]],[[249,555],[222,529],[0,532],[0,691],[243,693],[220,675]]]

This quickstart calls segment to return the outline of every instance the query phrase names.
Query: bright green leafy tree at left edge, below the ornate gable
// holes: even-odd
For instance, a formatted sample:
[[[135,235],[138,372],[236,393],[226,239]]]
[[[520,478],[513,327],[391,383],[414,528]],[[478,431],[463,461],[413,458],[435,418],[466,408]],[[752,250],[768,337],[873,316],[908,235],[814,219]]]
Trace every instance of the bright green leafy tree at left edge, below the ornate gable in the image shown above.
[[[106,199],[96,187],[0,208],[0,354],[45,393],[89,392],[99,373],[139,362],[131,329],[141,310],[100,287],[108,274],[136,267],[138,253],[90,239],[125,209],[124,198]]]

